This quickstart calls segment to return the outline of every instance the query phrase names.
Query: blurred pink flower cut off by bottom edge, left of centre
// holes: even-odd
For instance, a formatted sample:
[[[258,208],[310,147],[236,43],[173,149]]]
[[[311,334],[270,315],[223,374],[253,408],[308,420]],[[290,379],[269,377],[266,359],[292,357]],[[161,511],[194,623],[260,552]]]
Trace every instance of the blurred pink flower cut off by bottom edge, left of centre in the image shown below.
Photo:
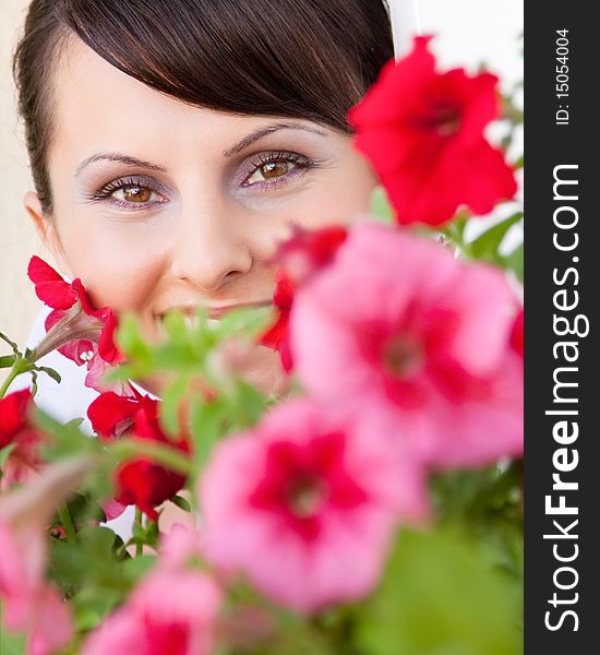
[[[158,568],[95,630],[82,655],[205,655],[220,591],[206,575]]]

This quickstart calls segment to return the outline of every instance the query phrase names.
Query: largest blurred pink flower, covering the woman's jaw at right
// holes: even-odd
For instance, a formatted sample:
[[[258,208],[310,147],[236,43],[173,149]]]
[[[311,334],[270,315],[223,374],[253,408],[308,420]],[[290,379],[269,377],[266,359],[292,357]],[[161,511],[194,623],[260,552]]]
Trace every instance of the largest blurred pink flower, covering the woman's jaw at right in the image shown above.
[[[439,243],[357,225],[301,289],[292,354],[309,393],[396,418],[423,463],[479,466],[523,451],[523,358],[504,275]]]

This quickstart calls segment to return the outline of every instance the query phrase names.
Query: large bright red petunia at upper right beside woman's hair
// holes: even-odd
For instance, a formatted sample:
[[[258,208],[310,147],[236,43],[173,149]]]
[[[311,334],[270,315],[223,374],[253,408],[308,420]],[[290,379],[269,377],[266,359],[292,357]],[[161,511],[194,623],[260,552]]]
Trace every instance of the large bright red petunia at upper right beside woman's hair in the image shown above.
[[[517,190],[514,170],[483,135],[499,115],[497,78],[436,72],[430,39],[416,37],[348,117],[400,224],[440,225],[460,205],[488,214]]]

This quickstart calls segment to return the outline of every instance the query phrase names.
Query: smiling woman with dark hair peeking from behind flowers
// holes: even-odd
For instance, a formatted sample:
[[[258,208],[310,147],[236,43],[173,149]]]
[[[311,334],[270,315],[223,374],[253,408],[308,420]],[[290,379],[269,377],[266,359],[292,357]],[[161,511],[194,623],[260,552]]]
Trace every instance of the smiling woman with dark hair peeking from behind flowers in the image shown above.
[[[292,225],[369,206],[346,117],[392,56],[372,0],[34,0],[15,55],[26,210],[60,272],[151,341],[173,309],[268,303]],[[263,350],[251,379],[275,388]]]

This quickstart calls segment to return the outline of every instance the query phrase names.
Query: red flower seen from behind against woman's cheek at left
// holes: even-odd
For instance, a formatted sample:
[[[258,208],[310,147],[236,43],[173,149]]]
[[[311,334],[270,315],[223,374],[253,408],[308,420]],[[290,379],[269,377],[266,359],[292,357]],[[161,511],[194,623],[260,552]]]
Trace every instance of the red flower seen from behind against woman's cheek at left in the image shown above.
[[[85,365],[85,384],[104,391],[100,379],[109,366],[123,361],[115,344],[117,319],[109,307],[93,309],[81,279],[65,282],[49,264],[33,257],[27,270],[37,297],[53,311],[46,319],[46,337],[36,348],[39,359],[51,350]]]

